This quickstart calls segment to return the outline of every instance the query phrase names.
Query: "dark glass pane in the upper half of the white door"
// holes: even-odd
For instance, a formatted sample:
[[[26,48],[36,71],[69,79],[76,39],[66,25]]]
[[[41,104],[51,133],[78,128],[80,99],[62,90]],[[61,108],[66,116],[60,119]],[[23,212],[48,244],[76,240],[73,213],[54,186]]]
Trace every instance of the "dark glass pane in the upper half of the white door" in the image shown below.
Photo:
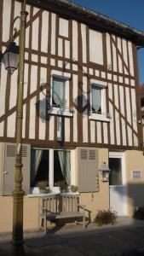
[[[109,168],[111,170],[109,177],[110,185],[122,185],[122,163],[120,158],[110,158]]]

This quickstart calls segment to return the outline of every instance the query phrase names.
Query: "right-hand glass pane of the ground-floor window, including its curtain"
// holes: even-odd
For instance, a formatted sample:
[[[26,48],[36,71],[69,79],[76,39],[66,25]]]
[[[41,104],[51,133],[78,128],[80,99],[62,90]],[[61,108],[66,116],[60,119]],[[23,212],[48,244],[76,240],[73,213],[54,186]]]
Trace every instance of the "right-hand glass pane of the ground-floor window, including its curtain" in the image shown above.
[[[65,180],[68,185],[71,184],[71,158],[69,151],[54,151],[54,183]]]

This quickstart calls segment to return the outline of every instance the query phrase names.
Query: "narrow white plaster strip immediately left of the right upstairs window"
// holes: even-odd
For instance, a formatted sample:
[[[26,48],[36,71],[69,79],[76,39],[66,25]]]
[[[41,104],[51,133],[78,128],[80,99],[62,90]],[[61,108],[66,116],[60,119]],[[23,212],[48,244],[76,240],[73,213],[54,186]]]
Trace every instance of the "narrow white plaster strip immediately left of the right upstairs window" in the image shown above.
[[[87,78],[83,78],[83,107],[87,104]],[[88,110],[83,113],[83,142],[88,143]]]

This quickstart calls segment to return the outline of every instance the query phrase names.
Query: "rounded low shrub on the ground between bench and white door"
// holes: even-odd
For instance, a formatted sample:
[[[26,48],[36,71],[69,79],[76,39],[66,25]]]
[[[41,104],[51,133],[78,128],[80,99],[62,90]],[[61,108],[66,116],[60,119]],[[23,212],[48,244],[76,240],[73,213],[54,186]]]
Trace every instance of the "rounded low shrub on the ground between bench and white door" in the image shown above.
[[[117,222],[116,212],[111,210],[101,210],[96,214],[95,223],[98,225],[115,224]]]

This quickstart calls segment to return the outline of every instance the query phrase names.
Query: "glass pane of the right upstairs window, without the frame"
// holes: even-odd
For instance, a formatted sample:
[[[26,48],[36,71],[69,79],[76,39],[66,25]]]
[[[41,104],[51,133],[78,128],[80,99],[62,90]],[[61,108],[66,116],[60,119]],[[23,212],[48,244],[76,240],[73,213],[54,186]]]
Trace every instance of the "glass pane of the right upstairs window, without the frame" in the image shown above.
[[[92,112],[101,113],[101,88],[92,86]]]

